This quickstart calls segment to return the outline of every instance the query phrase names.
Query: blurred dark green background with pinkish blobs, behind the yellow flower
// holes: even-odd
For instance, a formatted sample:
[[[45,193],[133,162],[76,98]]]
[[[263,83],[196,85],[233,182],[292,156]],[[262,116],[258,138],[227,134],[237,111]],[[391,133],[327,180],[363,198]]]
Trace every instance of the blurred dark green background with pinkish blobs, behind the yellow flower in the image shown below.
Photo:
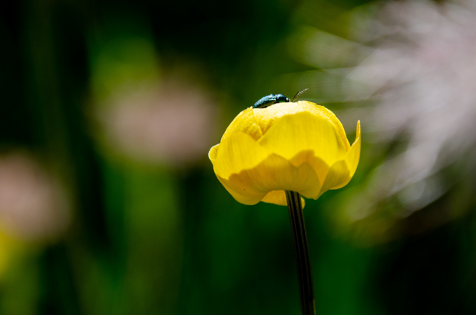
[[[357,41],[352,12],[375,8],[365,0],[4,3],[0,313],[299,314],[288,209],[236,202],[207,153],[259,98],[310,88],[301,99],[338,118],[357,113],[342,120],[351,143],[357,119],[364,124],[355,177],[306,200],[317,314],[475,314],[476,173],[460,170],[474,155],[448,164],[446,188],[411,213],[386,197],[372,214],[345,216],[345,202],[408,143],[405,133],[370,141],[371,118],[359,108],[378,101],[346,99],[334,90],[337,72],[323,71],[362,60],[347,60],[357,44],[338,43]],[[336,55],[347,59],[302,57],[311,37],[328,43],[316,54],[347,49]]]

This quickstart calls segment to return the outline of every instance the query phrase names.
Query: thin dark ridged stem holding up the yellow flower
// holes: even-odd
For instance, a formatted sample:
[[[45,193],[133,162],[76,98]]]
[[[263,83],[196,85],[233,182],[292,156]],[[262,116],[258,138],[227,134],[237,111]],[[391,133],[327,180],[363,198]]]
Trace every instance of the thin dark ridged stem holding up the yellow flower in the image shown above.
[[[316,315],[314,286],[312,284],[311,261],[307,246],[306,225],[302,212],[301,195],[295,191],[285,190],[288,202],[289,220],[296,252],[297,281],[299,283],[299,302],[301,315]]]

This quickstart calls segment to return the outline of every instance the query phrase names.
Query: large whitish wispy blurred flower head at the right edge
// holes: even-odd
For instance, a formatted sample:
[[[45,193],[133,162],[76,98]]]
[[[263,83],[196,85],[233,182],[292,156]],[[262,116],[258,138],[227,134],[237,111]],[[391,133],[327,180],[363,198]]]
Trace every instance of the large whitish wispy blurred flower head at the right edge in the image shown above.
[[[405,152],[374,173],[372,195],[397,194],[405,215],[445,192],[437,172],[476,141],[475,4],[386,2],[359,35],[378,43],[348,76],[379,100],[367,128],[380,141],[408,137]]]

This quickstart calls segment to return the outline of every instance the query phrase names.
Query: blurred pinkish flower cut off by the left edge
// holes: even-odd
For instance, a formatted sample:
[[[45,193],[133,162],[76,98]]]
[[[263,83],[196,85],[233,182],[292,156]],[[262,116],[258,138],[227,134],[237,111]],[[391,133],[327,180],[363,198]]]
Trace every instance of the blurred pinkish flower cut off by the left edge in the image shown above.
[[[0,227],[25,240],[58,236],[70,219],[60,183],[28,155],[0,157]]]

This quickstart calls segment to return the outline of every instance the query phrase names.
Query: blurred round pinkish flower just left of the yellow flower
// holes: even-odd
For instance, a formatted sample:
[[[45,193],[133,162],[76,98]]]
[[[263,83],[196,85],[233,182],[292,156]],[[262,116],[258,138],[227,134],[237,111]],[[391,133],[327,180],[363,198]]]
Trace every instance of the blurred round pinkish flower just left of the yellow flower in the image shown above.
[[[210,95],[180,80],[118,93],[99,111],[109,145],[139,161],[181,165],[205,157],[215,128]]]

